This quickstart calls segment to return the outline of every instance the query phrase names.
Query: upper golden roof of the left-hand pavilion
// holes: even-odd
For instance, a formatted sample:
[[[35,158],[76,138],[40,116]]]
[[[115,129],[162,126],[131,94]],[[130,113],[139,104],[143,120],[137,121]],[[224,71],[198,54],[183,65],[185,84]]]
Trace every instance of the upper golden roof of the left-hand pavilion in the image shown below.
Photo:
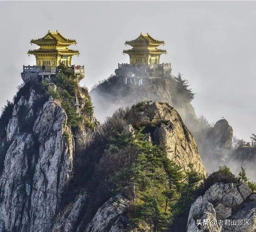
[[[39,45],[39,46],[42,46],[42,45],[69,46],[76,43],[75,40],[67,39],[64,36],[62,36],[58,30],[56,32],[51,32],[51,30],[49,30],[44,37],[39,39],[32,39],[30,42],[35,43],[36,45]]]

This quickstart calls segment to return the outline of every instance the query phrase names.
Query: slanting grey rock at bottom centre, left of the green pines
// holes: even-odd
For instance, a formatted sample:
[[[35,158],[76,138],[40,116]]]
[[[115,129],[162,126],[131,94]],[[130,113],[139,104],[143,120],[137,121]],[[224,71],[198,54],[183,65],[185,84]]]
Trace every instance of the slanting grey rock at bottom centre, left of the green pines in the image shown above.
[[[129,204],[130,201],[122,197],[122,195],[116,195],[115,197],[110,198],[98,209],[86,231],[107,232],[112,226],[114,226],[114,230],[114,228],[120,223],[120,219],[118,219],[118,217],[124,214]]]

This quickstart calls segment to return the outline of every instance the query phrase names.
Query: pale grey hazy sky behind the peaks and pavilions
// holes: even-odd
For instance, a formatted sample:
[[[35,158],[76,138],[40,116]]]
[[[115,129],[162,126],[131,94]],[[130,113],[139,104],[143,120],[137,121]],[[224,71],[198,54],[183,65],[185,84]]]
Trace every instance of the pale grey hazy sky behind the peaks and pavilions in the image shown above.
[[[256,133],[256,2],[168,1],[0,1],[0,106],[12,99],[22,80],[31,39],[57,29],[76,39],[86,65],[82,85],[92,87],[114,73],[125,40],[149,32],[164,40],[173,74],[183,73],[197,93],[192,105],[210,122],[225,117],[234,134]],[[127,48],[127,47],[126,47]]]

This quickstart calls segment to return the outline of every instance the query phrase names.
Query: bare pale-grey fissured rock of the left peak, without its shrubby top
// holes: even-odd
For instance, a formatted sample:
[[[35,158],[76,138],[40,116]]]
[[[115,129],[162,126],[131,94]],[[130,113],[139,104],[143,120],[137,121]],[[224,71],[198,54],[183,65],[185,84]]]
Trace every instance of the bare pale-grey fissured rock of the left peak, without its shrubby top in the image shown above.
[[[28,104],[21,98],[13,117],[21,106],[30,111]],[[72,176],[73,141],[63,135],[68,131],[67,115],[50,98],[37,113],[31,131],[20,131],[19,123],[12,119],[7,127],[11,144],[0,179],[1,218],[5,230],[47,230]]]

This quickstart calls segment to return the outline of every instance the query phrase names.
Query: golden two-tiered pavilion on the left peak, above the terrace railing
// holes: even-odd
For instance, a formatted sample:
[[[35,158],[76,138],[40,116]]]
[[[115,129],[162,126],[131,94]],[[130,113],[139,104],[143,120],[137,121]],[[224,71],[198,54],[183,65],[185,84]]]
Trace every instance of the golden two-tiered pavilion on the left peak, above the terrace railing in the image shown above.
[[[76,44],[76,41],[65,38],[58,30],[56,32],[49,30],[44,37],[32,39],[30,42],[40,46],[38,49],[28,51],[28,54],[36,56],[37,66],[56,67],[61,63],[71,66],[72,56],[80,54],[78,50],[68,48],[68,46]]]

